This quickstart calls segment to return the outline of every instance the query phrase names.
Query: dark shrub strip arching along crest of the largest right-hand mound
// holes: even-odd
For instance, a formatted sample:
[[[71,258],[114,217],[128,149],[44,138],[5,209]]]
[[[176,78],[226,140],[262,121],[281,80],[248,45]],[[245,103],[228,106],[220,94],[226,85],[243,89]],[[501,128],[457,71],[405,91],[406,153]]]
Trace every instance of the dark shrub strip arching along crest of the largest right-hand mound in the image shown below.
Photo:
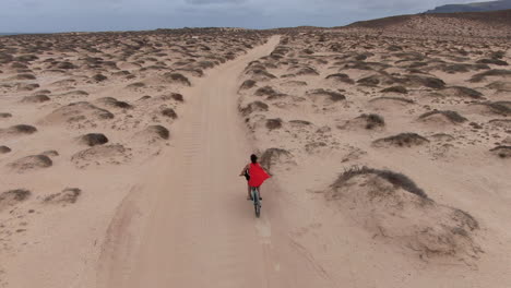
[[[428,195],[426,194],[426,192],[424,192],[423,189],[418,188],[417,184],[412,179],[406,177],[405,175],[393,172],[391,170],[380,170],[380,169],[368,168],[366,166],[361,168],[355,166],[345,170],[342,175],[338,176],[338,178],[332,184],[332,188],[334,189],[341,188],[345,185],[345,183],[349,179],[356,176],[360,176],[360,175],[376,175],[389,181],[395,188],[401,188],[419,197],[428,199]]]

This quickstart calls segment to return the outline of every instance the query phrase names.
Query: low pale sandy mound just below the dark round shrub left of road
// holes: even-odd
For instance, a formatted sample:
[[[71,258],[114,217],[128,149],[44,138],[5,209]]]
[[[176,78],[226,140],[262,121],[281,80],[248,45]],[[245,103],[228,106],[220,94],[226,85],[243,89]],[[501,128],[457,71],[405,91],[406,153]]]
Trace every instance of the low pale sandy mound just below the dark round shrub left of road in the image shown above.
[[[130,151],[120,144],[94,146],[74,154],[71,161],[78,168],[105,164],[119,165],[130,160]]]

